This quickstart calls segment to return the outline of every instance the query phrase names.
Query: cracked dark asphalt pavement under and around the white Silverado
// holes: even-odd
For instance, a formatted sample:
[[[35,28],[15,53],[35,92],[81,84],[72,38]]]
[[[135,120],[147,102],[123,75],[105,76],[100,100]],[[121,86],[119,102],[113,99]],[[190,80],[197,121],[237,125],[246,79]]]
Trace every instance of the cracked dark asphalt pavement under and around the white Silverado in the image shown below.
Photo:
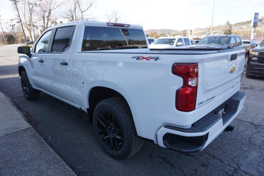
[[[46,143],[77,175],[263,175],[264,78],[243,74],[244,108],[233,132],[221,133],[201,152],[181,154],[145,142],[127,160],[106,155],[87,115],[43,92],[26,100],[17,74],[18,45],[0,47],[0,91],[7,95]]]

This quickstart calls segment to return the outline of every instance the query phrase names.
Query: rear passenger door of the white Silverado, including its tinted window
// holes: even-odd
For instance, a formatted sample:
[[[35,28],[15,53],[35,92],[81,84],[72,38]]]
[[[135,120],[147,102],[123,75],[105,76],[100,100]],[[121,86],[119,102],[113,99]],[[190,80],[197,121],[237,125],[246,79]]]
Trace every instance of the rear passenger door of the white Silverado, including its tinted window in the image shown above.
[[[44,56],[46,85],[49,92],[69,102],[73,102],[70,56],[75,28],[75,25],[71,25],[53,29],[49,53]]]

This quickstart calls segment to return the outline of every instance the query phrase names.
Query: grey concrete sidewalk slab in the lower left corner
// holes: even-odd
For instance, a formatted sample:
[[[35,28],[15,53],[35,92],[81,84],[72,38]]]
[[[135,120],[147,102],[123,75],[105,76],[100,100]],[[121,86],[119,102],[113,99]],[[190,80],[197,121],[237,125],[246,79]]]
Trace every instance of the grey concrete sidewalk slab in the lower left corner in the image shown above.
[[[0,175],[76,175],[0,92]]]

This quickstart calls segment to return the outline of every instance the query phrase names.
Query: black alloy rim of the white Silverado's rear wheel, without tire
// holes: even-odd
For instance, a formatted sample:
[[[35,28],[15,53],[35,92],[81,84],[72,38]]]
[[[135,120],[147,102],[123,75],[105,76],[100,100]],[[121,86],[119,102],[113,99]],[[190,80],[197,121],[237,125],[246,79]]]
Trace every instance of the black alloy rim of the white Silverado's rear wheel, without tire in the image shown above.
[[[124,133],[116,117],[108,112],[103,111],[97,118],[97,128],[99,135],[105,145],[114,151],[122,148],[124,143]]]

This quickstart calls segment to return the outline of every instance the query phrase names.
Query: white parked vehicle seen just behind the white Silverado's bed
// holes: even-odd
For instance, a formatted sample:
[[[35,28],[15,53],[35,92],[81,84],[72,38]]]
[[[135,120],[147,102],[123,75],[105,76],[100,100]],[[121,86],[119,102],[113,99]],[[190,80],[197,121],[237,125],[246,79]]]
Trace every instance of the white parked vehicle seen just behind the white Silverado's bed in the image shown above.
[[[191,45],[191,41],[188,37],[174,36],[174,37],[160,37],[155,40],[149,48],[170,48],[175,46]]]

